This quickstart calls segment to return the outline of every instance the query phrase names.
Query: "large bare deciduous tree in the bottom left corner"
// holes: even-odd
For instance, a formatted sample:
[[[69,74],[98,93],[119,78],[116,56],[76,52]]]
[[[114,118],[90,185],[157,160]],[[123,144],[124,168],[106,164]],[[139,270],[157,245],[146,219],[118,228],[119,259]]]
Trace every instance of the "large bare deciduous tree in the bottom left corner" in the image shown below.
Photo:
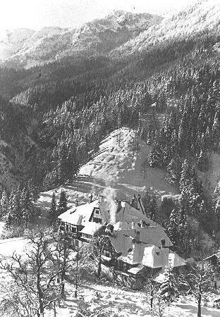
[[[10,262],[1,261],[1,268],[9,273],[19,291],[13,297],[16,296],[21,305],[26,304],[30,309],[30,315],[24,311],[23,316],[42,317],[44,310],[60,298],[56,282],[58,273],[53,261],[54,248],[49,243],[47,232],[30,234],[27,239],[28,249],[23,256],[14,253]],[[7,301],[10,300],[8,297]],[[1,305],[4,308],[4,302]]]

